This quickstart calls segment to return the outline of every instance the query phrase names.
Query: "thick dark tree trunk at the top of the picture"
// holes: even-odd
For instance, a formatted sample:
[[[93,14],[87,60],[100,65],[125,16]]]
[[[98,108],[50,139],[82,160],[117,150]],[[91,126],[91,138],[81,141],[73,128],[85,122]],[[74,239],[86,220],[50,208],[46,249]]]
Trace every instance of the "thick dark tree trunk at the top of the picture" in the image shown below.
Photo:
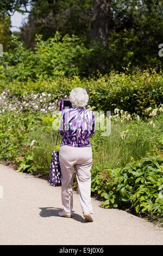
[[[110,5],[111,0],[94,0],[93,2],[90,39],[102,39],[104,45],[106,45],[108,40]]]

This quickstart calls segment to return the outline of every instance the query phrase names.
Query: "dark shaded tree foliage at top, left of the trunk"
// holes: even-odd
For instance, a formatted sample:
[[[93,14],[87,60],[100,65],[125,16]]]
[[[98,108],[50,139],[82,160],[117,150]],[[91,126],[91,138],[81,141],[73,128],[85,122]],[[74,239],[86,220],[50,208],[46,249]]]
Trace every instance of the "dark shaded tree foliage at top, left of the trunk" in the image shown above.
[[[33,47],[35,34],[42,34],[42,39],[47,40],[57,31],[63,36],[77,35],[82,41],[89,43],[93,0],[33,0],[32,2],[28,24],[24,24],[20,33],[27,47]]]

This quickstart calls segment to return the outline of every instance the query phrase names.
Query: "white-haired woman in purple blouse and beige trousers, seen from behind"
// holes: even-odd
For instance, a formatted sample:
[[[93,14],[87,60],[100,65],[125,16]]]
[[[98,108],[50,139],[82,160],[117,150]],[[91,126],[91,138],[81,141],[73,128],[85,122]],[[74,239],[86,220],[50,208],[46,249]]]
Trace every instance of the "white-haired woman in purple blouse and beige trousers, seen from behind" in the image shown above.
[[[59,133],[63,136],[60,145],[59,162],[61,168],[60,217],[72,217],[73,175],[76,169],[80,205],[85,221],[92,222],[91,205],[91,166],[92,147],[90,136],[95,133],[95,115],[85,106],[89,96],[85,89],[77,87],[70,93],[72,108],[61,114]]]

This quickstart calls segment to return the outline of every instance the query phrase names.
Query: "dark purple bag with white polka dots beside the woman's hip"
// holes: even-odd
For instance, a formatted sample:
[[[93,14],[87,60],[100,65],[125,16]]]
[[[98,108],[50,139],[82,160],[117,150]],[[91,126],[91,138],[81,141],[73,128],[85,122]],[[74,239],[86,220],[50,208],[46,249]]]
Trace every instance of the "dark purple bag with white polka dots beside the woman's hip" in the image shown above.
[[[53,150],[50,173],[47,181],[54,187],[61,186],[61,170],[59,164],[59,151]]]

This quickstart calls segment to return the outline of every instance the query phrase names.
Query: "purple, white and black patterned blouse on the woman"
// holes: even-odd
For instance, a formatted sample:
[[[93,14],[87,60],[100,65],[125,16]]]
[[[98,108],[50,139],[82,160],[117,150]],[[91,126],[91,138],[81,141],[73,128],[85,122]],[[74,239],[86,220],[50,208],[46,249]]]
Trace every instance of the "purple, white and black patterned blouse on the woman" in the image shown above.
[[[79,115],[81,111],[83,113]],[[77,115],[79,115],[78,118]],[[90,109],[64,109],[61,114],[59,133],[64,137],[60,146],[91,147],[90,136],[95,133],[95,115]]]

